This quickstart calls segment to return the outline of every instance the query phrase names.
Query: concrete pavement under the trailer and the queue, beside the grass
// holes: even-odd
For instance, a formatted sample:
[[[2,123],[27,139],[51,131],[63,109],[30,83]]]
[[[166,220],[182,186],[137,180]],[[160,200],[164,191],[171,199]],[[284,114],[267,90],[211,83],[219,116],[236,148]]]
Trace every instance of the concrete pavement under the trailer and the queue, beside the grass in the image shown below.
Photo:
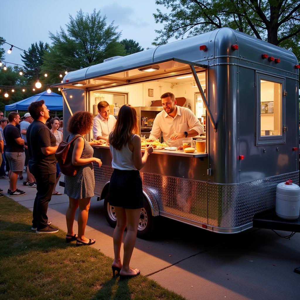
[[[26,194],[11,198],[32,210],[36,189],[23,186],[22,181],[17,186]],[[7,196],[8,180],[0,179],[0,187]],[[64,192],[63,187],[57,190]],[[61,195],[52,196],[48,208],[49,221],[64,231],[67,206],[68,197]],[[131,266],[162,286],[193,300],[299,298],[300,275],[293,272],[300,266],[299,234],[286,240],[264,229],[220,235],[166,218],[159,224],[155,238],[137,239]],[[75,232],[76,228],[75,221]],[[86,236],[96,239],[96,249],[113,257],[112,234],[103,201],[93,197]]]

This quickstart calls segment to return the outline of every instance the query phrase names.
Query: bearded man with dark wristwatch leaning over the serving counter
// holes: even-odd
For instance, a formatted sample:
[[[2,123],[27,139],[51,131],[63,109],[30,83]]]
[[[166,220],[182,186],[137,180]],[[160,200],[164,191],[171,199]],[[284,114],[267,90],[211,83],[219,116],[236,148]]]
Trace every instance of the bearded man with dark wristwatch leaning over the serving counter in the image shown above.
[[[203,125],[190,109],[176,105],[174,94],[161,95],[161,104],[164,110],[154,119],[149,139],[157,140],[162,131],[164,142],[171,139],[168,144],[179,147],[183,140],[192,140],[204,132]]]

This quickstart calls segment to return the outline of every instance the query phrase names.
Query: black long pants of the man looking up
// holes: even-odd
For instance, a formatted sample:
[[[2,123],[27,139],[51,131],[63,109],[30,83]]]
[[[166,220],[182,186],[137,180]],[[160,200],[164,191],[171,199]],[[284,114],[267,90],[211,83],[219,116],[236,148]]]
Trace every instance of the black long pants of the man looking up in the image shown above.
[[[33,205],[32,212],[32,227],[37,227],[38,230],[40,230],[48,226],[48,203],[51,200],[53,193],[56,174],[41,174],[37,170],[30,170],[30,172],[33,176],[35,176],[37,183],[37,194],[35,196],[35,203]]]

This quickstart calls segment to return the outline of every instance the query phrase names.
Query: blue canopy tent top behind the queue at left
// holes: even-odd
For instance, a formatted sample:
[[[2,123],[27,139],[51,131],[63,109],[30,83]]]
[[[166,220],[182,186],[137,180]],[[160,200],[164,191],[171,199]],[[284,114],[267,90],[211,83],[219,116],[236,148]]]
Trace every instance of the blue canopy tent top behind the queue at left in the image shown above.
[[[48,108],[48,110],[62,110],[62,96],[55,94],[53,92],[47,93],[47,91],[44,91],[42,93],[39,93],[37,95],[31,96],[29,98],[23,99],[21,101],[5,105],[5,111],[11,110],[11,111],[27,111],[29,104],[31,104],[34,101],[44,100],[45,105]]]

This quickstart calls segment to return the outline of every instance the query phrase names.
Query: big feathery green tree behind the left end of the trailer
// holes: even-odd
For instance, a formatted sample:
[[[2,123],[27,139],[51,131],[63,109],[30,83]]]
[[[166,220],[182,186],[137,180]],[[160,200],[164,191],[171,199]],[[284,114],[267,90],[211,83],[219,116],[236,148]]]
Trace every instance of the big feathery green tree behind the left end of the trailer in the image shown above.
[[[117,43],[121,35],[121,32],[117,32],[118,26],[113,26],[113,22],[107,26],[106,16],[101,16],[100,10],[96,12],[94,9],[91,14],[84,14],[79,10],[75,18],[69,15],[69,19],[66,32],[62,28],[56,34],[49,32],[52,45],[49,52],[44,54],[44,58],[80,69],[101,63],[110,56],[126,55],[124,46]],[[66,70],[65,67],[48,61],[43,62],[43,68],[63,72]],[[57,82],[57,75],[52,77],[52,80]]]

